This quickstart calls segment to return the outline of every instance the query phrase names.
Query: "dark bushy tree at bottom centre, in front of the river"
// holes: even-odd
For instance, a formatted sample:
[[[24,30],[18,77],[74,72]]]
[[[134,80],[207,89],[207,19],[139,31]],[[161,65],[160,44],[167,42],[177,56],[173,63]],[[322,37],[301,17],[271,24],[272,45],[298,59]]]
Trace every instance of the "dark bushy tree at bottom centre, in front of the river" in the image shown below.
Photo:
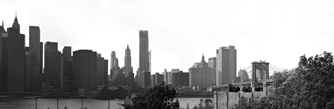
[[[126,109],[178,109],[179,101],[176,98],[176,89],[170,89],[162,82],[139,94],[132,99],[133,105],[125,106]]]

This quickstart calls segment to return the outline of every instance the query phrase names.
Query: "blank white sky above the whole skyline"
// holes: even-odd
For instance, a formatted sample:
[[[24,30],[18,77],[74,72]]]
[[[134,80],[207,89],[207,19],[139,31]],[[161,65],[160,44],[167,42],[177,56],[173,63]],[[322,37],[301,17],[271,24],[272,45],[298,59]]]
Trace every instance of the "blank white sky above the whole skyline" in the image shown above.
[[[40,41],[58,42],[59,51],[93,50],[109,67],[115,51],[123,67],[129,44],[134,72],[139,30],[149,31],[152,74],[188,72],[202,54],[206,61],[216,57],[219,47],[235,46],[237,70],[260,59],[292,69],[303,54],[334,51],[331,0],[2,0],[5,28],[14,22],[15,9],[26,47],[29,26],[39,26]]]

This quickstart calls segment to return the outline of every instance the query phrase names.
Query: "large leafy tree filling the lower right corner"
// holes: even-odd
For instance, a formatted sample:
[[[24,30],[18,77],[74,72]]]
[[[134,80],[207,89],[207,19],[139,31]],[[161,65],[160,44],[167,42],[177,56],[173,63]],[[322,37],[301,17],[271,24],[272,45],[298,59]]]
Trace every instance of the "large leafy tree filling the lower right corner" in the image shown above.
[[[275,72],[269,95],[239,100],[233,109],[333,109],[334,63],[332,53],[300,57],[297,68]]]

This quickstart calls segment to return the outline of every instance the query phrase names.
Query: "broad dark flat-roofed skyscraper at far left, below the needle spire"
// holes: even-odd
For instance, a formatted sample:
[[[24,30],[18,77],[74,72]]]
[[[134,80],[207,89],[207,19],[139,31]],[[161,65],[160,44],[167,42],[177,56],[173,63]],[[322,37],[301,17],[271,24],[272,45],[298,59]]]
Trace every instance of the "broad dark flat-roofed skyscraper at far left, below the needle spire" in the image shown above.
[[[25,35],[2,33],[1,36],[0,90],[2,92],[24,92]]]

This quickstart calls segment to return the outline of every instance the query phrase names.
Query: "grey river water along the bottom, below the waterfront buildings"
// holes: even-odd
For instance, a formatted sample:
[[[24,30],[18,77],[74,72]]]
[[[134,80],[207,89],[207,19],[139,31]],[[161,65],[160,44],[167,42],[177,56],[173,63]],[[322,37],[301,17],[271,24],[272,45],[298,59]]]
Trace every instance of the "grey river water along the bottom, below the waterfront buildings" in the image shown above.
[[[180,107],[186,108],[189,103],[189,108],[198,105],[201,98],[178,98]],[[205,99],[205,98],[203,98]],[[212,98],[210,98],[212,99]],[[108,100],[97,100],[92,98],[84,98],[82,100],[83,107],[88,109],[108,109]],[[124,100],[110,100],[110,109],[123,109],[123,107],[117,105],[117,103],[124,103]],[[59,109],[80,109],[81,99],[58,99]],[[6,98],[0,100],[0,109],[34,109],[35,99],[20,99],[20,98]],[[56,109],[56,98],[39,98],[37,99],[37,109]]]

